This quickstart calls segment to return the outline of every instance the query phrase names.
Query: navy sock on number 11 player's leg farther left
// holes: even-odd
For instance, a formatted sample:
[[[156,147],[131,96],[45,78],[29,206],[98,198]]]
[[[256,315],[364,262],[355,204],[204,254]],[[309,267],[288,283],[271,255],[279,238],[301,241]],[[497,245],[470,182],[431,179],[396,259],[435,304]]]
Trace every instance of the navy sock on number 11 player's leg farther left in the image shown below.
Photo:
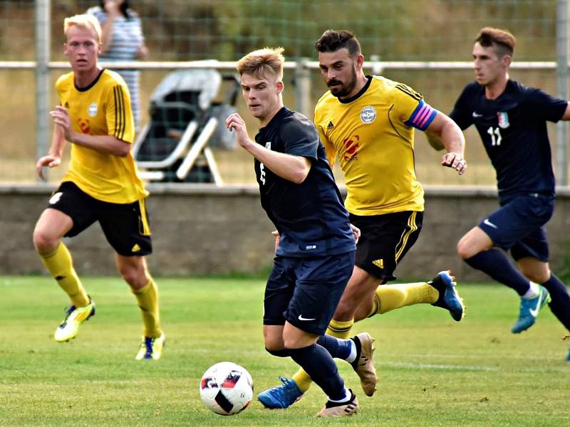
[[[491,248],[489,251],[480,252],[471,258],[467,258],[465,262],[472,268],[487,273],[497,282],[516,290],[521,296],[529,290],[529,279],[517,270],[502,249]]]

